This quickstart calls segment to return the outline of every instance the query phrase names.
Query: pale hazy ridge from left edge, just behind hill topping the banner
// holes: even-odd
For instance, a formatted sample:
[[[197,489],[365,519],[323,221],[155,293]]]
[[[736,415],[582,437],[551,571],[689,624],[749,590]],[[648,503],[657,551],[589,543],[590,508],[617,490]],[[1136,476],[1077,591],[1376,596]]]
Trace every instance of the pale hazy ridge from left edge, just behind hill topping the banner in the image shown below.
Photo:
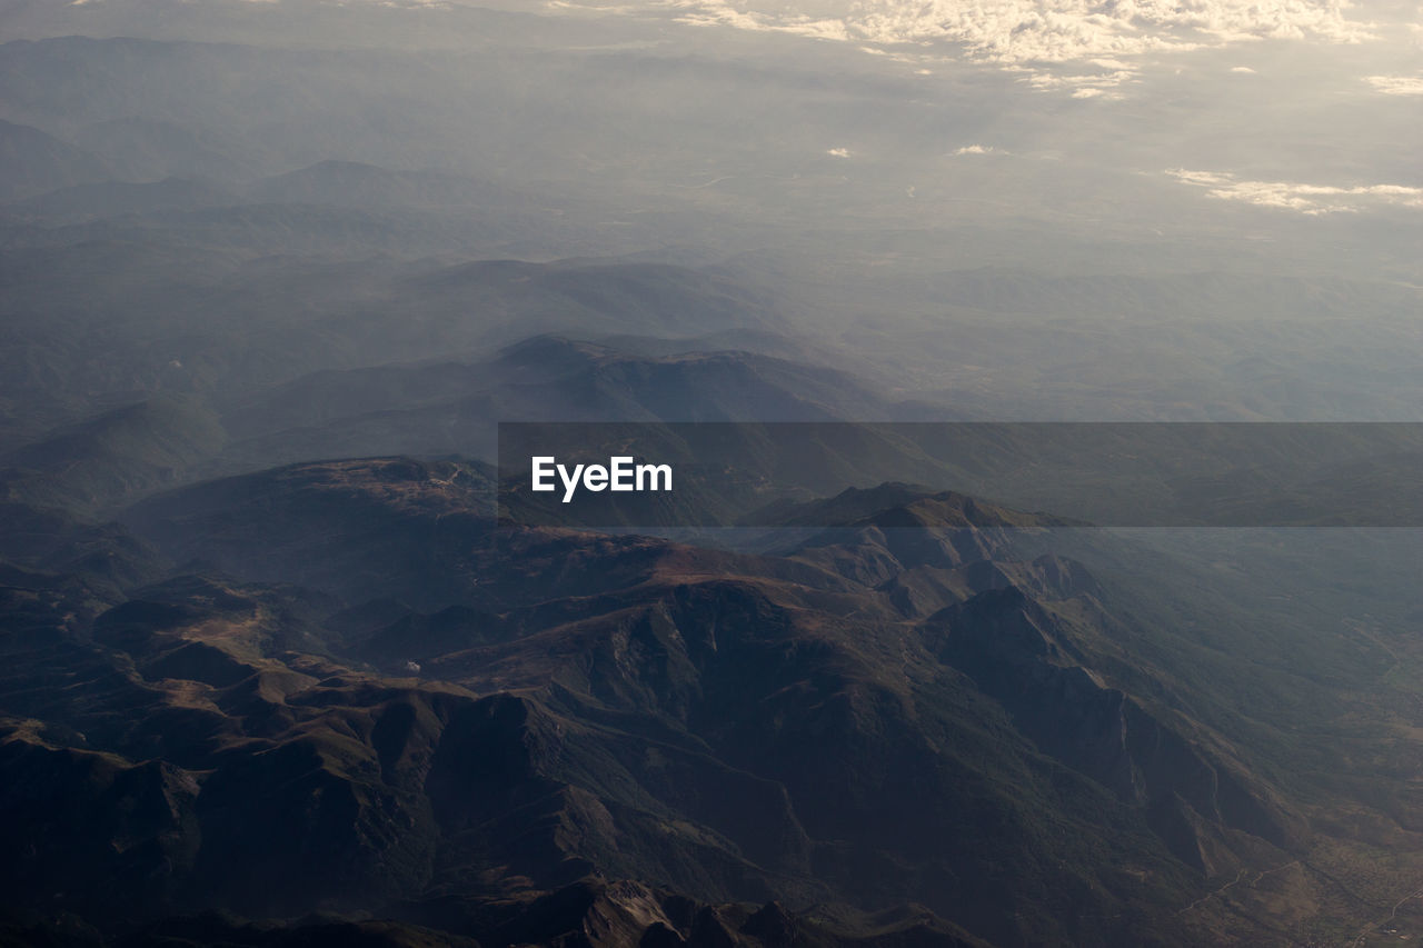
[[[162,188],[132,194],[155,191]],[[388,223],[330,214],[339,226],[370,232]],[[222,228],[313,225],[313,212],[295,205],[144,219],[161,215],[206,216]],[[134,236],[17,248],[0,263],[10,330],[0,339],[0,393],[13,400],[0,410],[17,427],[77,421],[158,390],[205,393],[228,407],[316,372],[451,353],[478,362],[544,333],[667,339],[784,329],[774,299],[696,268],[252,258]]]

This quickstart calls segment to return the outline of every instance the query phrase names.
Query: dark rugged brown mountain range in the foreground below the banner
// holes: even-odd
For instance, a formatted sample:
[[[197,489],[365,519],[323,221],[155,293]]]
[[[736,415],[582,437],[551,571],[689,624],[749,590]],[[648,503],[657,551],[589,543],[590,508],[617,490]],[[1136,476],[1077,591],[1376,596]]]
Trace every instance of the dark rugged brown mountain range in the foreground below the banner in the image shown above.
[[[1221,658],[1151,601],[1194,575],[1143,598],[1123,541],[1077,541],[1097,575],[904,485],[776,555],[495,530],[490,497],[283,468],[65,528],[104,575],[7,534],[13,938],[1296,944],[1412,871],[1392,804],[1191,673]]]

